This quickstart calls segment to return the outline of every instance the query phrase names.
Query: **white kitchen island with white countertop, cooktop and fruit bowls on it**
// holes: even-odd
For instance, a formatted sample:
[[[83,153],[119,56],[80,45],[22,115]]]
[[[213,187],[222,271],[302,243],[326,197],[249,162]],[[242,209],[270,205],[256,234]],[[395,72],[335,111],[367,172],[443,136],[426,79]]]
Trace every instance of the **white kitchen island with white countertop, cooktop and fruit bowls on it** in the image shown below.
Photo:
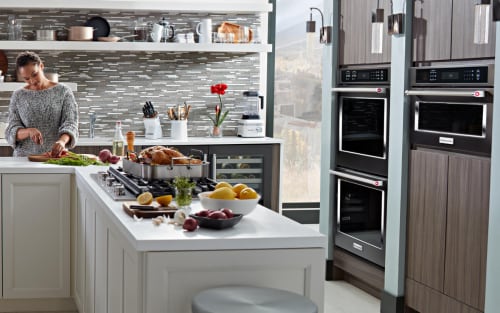
[[[231,284],[296,292],[323,312],[326,239],[306,226],[262,206],[226,230],[155,226],[151,220],[131,218],[92,179],[103,167],[59,167],[24,158],[0,162],[2,183],[9,173],[30,174],[31,180],[51,173],[71,175],[74,200],[66,211],[68,216],[71,212],[72,274],[67,279],[79,312],[190,312],[195,293]],[[4,200],[2,194],[2,210],[9,210]],[[192,208],[200,209],[199,203]],[[31,261],[35,266],[37,258]]]

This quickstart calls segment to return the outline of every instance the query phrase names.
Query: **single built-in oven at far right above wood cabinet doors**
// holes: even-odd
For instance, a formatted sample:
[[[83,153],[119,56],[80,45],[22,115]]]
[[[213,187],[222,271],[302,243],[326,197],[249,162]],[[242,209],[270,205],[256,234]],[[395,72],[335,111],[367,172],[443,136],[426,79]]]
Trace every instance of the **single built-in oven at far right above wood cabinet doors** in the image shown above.
[[[491,153],[493,65],[410,69],[413,146]]]

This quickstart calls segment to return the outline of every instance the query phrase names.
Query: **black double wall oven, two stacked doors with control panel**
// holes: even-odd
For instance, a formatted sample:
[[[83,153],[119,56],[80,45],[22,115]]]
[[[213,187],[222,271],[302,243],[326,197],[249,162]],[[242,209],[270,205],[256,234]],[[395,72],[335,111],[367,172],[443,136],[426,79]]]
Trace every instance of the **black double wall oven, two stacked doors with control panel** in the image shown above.
[[[336,92],[338,137],[335,245],[384,266],[389,135],[387,67],[341,69]]]

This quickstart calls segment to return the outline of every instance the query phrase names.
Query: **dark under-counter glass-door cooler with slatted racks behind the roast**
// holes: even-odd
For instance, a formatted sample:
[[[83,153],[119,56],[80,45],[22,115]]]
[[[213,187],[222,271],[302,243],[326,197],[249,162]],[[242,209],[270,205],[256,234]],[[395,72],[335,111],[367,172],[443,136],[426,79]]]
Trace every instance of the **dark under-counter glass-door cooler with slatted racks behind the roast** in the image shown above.
[[[261,195],[262,205],[279,211],[279,145],[210,146],[209,151],[213,178],[246,184]]]

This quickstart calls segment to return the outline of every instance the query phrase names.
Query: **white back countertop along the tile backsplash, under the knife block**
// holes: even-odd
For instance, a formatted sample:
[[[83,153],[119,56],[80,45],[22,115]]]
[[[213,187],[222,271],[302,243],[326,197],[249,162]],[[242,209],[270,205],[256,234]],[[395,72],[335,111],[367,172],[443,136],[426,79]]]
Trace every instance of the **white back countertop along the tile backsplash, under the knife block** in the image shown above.
[[[96,137],[86,138],[80,137],[77,146],[111,146],[112,138]],[[283,140],[279,138],[242,138],[237,136],[226,136],[222,138],[212,137],[188,137],[188,140],[173,140],[169,137],[151,140],[145,138],[136,138],[134,145],[136,146],[191,146],[191,145],[253,145],[253,144],[282,144]],[[7,140],[0,139],[0,146],[9,146]]]

